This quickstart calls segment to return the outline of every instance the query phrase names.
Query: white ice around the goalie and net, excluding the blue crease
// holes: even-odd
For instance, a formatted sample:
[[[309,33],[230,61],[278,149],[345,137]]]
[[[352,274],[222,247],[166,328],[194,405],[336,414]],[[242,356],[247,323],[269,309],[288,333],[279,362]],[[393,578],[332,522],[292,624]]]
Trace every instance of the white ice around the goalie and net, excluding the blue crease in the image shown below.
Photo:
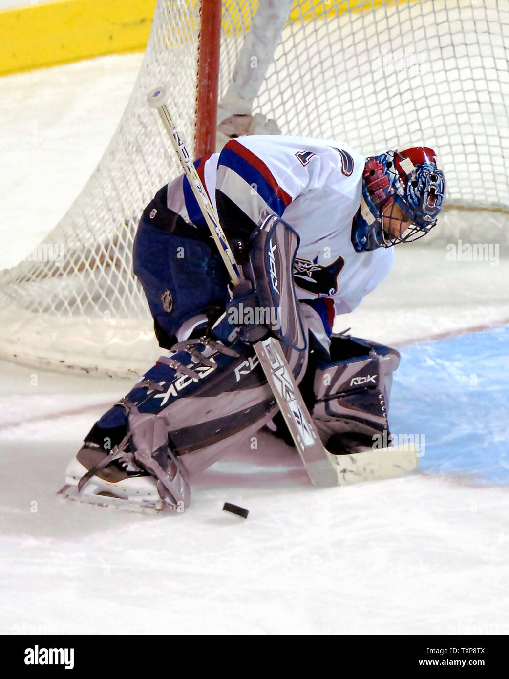
[[[1,267],[71,204],[140,60],[0,79]],[[400,345],[509,318],[504,253],[493,266],[445,266],[443,246],[396,255],[337,329]],[[506,488],[421,472],[317,490],[261,434],[197,479],[183,515],[66,504],[69,458],[130,382],[0,365],[1,633],[508,634]]]

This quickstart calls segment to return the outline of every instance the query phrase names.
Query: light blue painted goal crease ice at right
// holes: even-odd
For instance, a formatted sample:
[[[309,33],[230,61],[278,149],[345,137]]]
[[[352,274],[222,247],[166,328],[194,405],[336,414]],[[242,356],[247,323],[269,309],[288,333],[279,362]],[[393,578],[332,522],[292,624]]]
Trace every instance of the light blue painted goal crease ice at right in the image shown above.
[[[425,436],[420,471],[509,485],[508,357],[509,326],[401,350],[391,430]]]

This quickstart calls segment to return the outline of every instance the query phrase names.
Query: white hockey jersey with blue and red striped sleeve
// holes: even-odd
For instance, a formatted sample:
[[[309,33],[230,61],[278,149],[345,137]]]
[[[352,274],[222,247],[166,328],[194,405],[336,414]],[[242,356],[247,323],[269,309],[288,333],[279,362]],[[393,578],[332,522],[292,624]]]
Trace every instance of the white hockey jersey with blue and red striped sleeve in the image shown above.
[[[301,239],[294,267],[297,297],[332,300],[335,314],[344,314],[379,284],[393,261],[392,248],[357,253],[352,245],[365,162],[339,140],[243,136],[196,166],[227,237],[248,238],[276,213]],[[168,207],[204,225],[187,179],[168,185]],[[330,313],[329,321],[332,325]]]

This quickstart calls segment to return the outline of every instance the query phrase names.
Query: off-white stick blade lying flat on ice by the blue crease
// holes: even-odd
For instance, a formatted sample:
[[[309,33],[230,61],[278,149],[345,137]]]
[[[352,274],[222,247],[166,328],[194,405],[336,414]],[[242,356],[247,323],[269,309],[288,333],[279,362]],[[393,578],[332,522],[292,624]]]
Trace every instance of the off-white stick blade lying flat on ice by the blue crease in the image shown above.
[[[347,455],[327,455],[337,471],[337,485],[392,479],[410,473],[419,464],[419,448],[414,443]]]

